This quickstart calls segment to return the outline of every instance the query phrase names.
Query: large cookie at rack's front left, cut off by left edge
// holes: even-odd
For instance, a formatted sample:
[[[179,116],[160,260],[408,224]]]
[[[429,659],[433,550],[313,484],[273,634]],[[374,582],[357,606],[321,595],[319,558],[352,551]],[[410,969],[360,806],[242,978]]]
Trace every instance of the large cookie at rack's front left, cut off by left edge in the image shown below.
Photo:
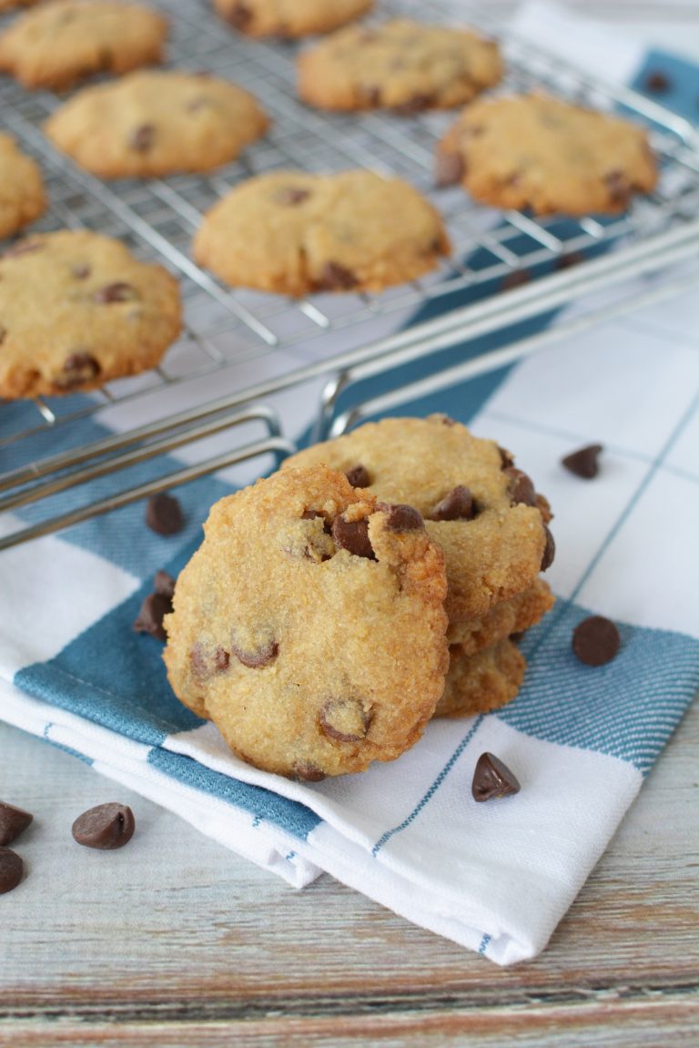
[[[0,258],[0,396],[82,392],[137,374],[179,329],[175,278],[109,237],[47,233]]]

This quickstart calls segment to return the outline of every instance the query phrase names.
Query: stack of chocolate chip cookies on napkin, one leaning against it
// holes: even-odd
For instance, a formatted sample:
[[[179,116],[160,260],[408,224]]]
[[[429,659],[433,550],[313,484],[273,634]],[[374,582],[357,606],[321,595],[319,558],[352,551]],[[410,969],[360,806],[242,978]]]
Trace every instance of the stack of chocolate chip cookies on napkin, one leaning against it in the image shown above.
[[[257,767],[305,780],[487,712],[551,607],[548,503],[444,415],[390,418],[221,500],[166,618],[175,694]]]

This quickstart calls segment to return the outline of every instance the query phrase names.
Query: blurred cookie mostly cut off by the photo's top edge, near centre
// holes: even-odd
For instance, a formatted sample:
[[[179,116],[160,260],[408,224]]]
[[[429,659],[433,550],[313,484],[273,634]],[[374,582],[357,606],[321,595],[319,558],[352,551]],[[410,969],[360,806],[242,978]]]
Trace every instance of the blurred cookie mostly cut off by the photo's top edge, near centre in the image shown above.
[[[214,0],[230,25],[248,37],[307,37],[329,32],[373,6],[373,0]]]

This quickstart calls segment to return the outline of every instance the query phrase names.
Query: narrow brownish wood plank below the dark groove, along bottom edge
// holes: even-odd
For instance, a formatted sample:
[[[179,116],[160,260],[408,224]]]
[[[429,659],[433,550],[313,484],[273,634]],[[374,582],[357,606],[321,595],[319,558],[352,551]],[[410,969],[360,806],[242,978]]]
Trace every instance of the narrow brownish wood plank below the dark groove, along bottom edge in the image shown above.
[[[351,1005],[351,1000],[348,1001]],[[192,1022],[184,1013],[178,1022],[153,1017],[148,1023],[75,1022],[51,1025],[27,1021],[0,1024],[0,1046],[53,1048],[60,1045],[100,1045],[116,1048],[139,1045],[148,1048],[214,1048],[219,1045],[255,1048],[349,1048],[371,1044],[402,1048],[494,1048],[503,1044],[517,1048],[674,1048],[696,1045],[699,1033],[697,998],[670,995],[646,1000],[590,999],[572,1006],[532,1003],[520,1008],[425,1009],[392,1011],[379,1016],[252,1018],[231,1023],[225,1019]]]

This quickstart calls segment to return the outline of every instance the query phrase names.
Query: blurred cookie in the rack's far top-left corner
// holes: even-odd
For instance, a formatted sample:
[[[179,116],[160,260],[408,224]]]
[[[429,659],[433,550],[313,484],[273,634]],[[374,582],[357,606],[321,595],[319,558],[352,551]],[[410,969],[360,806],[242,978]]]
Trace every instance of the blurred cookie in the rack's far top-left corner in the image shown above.
[[[0,36],[0,70],[25,87],[62,90],[96,72],[160,62],[168,23],[157,12],[106,0],[51,0]]]

